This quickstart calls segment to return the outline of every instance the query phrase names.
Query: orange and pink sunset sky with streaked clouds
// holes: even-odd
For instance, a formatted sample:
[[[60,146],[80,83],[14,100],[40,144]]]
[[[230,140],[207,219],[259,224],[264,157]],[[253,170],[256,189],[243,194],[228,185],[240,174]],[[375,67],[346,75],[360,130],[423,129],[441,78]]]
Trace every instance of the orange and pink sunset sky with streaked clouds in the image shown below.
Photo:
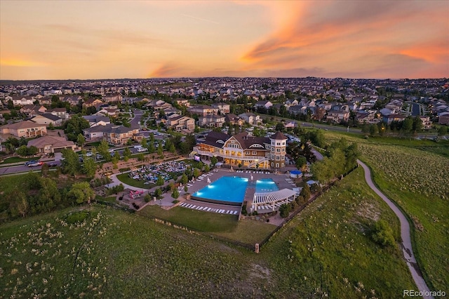
[[[0,0],[0,79],[449,77],[449,1]]]

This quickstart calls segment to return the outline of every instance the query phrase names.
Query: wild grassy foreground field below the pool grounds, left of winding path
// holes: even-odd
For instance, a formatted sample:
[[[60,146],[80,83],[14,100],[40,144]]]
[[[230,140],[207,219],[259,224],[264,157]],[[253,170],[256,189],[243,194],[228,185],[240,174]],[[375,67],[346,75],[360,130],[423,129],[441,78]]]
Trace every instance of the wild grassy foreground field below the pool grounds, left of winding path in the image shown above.
[[[173,213],[192,225],[206,217],[179,210]],[[236,220],[225,216],[224,234],[254,234],[257,222],[239,222],[236,230]],[[0,226],[0,292],[5,298],[398,298],[413,282],[398,247],[371,241],[375,219],[387,220],[397,237],[398,220],[364,184],[361,169],[258,255],[142,215],[74,207]]]

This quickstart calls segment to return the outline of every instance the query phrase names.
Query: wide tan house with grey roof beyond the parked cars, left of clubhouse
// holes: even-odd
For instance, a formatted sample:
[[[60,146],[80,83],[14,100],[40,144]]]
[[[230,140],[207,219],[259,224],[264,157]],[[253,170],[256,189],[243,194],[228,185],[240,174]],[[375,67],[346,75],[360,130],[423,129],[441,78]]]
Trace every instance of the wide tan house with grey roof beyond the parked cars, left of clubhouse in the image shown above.
[[[114,145],[125,145],[128,140],[138,141],[138,128],[127,128],[115,124],[107,124],[105,126],[93,126],[85,128],[83,135],[88,141],[98,141],[105,138],[107,142]]]

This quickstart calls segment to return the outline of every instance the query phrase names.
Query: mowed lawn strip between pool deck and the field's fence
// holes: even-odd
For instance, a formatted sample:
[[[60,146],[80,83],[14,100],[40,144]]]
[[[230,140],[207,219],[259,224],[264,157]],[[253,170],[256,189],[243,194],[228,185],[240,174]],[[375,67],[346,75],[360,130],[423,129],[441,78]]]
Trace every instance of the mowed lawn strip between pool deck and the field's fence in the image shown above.
[[[152,215],[179,225],[185,225],[199,232],[215,234],[234,241],[253,245],[260,243],[276,228],[265,222],[241,220],[237,215],[208,213],[191,208],[176,207],[164,210],[159,206],[146,206],[140,215]],[[251,232],[248,234],[248,232]]]

